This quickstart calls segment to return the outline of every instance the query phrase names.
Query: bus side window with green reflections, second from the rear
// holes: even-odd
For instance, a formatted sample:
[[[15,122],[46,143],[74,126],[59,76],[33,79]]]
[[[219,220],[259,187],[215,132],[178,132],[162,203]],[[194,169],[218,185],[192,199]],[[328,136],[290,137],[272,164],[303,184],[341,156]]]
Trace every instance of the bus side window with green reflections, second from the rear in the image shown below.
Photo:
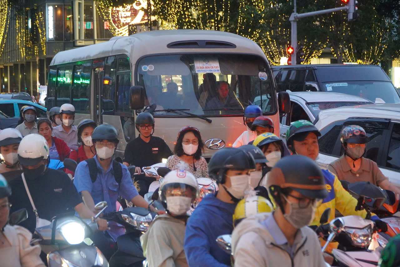
[[[71,102],[72,66],[58,68],[56,79],[56,106]]]

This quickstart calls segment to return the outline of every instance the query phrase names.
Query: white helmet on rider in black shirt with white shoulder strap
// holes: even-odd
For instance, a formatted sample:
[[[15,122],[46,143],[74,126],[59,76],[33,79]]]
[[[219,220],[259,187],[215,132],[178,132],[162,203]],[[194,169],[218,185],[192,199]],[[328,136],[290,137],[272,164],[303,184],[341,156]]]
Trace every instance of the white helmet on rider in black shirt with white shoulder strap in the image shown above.
[[[39,134],[28,134],[18,147],[18,159],[22,165],[36,165],[49,157],[49,147],[46,139]]]

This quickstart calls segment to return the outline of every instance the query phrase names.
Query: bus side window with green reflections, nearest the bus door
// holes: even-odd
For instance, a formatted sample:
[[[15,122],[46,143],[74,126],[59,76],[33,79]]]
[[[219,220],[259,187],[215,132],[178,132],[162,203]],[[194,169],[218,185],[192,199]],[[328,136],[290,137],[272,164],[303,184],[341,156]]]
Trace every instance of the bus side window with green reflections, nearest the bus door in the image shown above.
[[[90,72],[90,63],[74,66],[72,105],[78,113],[90,113]]]

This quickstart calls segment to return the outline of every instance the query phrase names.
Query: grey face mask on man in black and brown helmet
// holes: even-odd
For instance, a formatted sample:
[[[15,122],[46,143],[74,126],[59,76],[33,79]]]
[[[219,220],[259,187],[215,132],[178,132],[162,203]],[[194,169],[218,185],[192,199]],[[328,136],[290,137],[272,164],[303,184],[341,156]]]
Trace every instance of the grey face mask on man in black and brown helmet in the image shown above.
[[[284,198],[288,201],[286,197]],[[309,225],[314,219],[315,207],[313,207],[311,203],[304,209],[300,208],[298,203],[289,202],[289,204],[290,210],[289,212],[286,212],[283,217],[296,229]]]

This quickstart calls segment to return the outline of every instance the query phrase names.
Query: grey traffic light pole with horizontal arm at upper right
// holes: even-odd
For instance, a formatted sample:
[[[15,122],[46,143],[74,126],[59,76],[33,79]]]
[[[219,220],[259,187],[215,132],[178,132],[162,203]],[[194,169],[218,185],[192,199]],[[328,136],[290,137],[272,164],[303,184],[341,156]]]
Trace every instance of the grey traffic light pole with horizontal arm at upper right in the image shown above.
[[[322,14],[328,14],[328,13],[333,13],[333,12],[338,12],[342,10],[349,10],[349,6],[341,6],[340,8],[330,8],[330,9],[325,9],[325,10],[318,10],[318,11],[313,11],[313,12],[307,12],[307,13],[302,13],[302,14],[297,14],[296,13],[296,0],[294,2],[294,12],[290,15],[289,21],[292,26],[291,34],[291,42],[292,42],[292,47],[293,47],[293,54],[292,54],[292,65],[296,65],[297,59],[296,59],[296,52],[297,52],[297,21],[300,18],[307,18],[311,16],[317,16],[317,15],[322,15]]]

